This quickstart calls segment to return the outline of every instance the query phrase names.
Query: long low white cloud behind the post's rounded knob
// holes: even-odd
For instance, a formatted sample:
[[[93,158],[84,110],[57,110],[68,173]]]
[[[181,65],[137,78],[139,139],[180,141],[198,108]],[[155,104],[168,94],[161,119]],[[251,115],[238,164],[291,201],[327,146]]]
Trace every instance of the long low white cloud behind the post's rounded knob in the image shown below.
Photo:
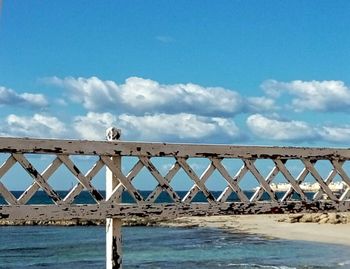
[[[233,142],[241,139],[238,127],[225,118],[201,117],[193,114],[154,114],[135,116],[89,112],[76,117],[74,128],[84,139],[104,139],[104,130],[117,126],[126,140],[146,141],[215,141]]]

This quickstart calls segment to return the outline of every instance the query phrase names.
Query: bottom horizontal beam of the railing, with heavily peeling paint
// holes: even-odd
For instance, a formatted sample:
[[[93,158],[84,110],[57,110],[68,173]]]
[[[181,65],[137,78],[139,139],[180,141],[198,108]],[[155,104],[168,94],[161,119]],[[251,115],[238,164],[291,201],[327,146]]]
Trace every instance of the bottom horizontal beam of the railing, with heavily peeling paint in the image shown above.
[[[349,212],[350,201],[191,203],[191,204],[96,204],[96,205],[11,205],[0,206],[0,220],[72,220],[182,216],[247,215],[276,213]]]

